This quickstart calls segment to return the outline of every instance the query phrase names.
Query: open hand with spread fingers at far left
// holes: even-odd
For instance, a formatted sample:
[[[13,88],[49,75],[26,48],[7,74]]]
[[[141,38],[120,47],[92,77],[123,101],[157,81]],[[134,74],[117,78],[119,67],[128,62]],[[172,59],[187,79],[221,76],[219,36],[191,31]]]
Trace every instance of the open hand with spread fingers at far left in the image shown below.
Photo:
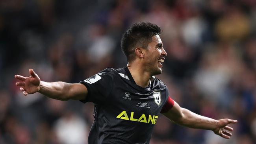
[[[31,75],[30,77],[20,75],[14,76],[16,79],[20,80],[20,82],[15,83],[15,85],[20,87],[20,91],[22,91],[25,96],[40,90],[40,78],[32,69],[29,69],[29,73]]]

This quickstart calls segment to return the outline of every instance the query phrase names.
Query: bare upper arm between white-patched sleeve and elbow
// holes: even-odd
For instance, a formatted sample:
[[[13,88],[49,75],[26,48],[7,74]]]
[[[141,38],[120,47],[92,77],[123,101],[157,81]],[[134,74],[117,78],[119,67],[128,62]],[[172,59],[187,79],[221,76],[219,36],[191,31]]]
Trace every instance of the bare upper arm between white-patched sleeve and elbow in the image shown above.
[[[69,89],[69,99],[71,100],[85,100],[88,94],[88,90],[85,85],[81,83],[72,83],[70,84]]]

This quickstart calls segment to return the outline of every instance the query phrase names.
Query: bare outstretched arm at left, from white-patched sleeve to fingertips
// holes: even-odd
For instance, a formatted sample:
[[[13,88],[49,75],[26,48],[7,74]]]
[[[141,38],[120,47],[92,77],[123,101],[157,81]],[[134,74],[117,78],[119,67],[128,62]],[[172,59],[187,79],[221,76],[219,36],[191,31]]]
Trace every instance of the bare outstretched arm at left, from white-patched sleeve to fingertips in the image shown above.
[[[30,77],[15,75],[15,78],[20,80],[16,85],[20,87],[20,91],[25,96],[35,92],[57,100],[84,100],[87,96],[86,87],[80,83],[71,84],[61,81],[48,83],[41,81],[32,69],[29,73]]]

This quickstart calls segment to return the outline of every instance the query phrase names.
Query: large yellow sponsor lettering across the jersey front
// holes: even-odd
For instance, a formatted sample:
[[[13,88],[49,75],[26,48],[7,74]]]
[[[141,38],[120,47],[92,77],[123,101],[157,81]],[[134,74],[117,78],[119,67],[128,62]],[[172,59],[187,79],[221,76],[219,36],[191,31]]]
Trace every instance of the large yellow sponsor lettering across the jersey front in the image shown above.
[[[130,120],[130,121],[135,121],[135,122],[144,122],[148,124],[156,124],[156,120],[158,116],[151,116],[150,114],[146,117],[146,115],[143,113],[139,118],[134,118],[134,112],[131,112],[130,117],[128,117],[126,111],[122,111],[117,118],[123,119],[123,120]]]

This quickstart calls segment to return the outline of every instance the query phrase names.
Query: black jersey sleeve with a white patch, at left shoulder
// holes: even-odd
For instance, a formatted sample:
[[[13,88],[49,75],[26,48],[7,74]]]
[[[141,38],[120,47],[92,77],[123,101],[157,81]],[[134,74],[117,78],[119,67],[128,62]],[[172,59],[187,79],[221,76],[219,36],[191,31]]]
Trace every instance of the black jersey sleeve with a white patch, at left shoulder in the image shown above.
[[[104,103],[113,88],[113,72],[105,69],[79,83],[85,85],[88,90],[86,98],[80,100],[81,102]]]

